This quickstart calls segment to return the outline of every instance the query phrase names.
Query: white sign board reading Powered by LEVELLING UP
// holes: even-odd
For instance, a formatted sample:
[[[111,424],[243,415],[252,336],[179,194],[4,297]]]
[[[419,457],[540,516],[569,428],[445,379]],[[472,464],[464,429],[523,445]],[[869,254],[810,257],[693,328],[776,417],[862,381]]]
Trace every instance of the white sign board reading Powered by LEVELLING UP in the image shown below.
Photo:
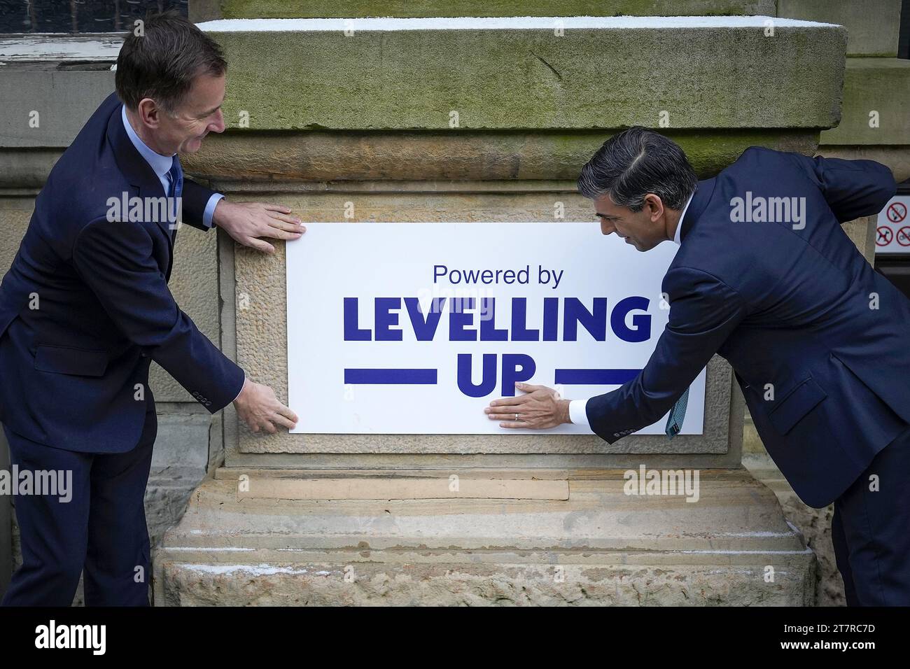
[[[307,223],[287,245],[292,432],[536,432],[483,409],[516,381],[586,399],[637,376],[677,248],[641,253],[596,222]],[[703,431],[704,378],[683,434]]]

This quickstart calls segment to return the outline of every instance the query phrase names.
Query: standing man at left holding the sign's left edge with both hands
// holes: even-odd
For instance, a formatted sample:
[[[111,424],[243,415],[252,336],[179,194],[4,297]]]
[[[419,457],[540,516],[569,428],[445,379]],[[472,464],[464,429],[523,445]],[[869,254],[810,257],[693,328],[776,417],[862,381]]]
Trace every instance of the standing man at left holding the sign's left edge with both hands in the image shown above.
[[[0,421],[12,465],[35,481],[58,472],[72,481],[66,495],[16,496],[23,564],[5,605],[68,606],[83,570],[87,605],[148,604],[152,360],[208,411],[233,402],[254,431],[297,421],[198,331],[167,280],[181,204],[194,228],[217,225],[266,252],[262,237],[304,228],[288,208],[229,203],[184,179],[177,154],[225,128],[227,65],[178,15],[144,28],[121,48],[116,95],[47,178],[0,285]]]

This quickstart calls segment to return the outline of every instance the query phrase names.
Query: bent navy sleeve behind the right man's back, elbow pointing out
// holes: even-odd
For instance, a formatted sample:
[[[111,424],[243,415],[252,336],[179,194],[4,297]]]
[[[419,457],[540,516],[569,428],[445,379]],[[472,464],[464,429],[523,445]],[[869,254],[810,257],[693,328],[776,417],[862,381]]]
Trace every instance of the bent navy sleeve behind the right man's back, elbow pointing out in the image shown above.
[[[895,197],[897,184],[888,167],[875,160],[794,157],[815,185],[821,189],[828,207],[841,223],[864,216],[875,216],[888,200]]]

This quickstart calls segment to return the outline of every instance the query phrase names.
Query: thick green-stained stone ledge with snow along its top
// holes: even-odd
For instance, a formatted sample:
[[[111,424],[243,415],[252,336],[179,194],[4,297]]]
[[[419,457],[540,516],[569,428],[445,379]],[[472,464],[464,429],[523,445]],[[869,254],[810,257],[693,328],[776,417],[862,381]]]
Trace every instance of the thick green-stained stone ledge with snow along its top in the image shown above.
[[[227,125],[250,130],[833,127],[846,45],[842,26],[771,16],[199,27],[231,64]]]

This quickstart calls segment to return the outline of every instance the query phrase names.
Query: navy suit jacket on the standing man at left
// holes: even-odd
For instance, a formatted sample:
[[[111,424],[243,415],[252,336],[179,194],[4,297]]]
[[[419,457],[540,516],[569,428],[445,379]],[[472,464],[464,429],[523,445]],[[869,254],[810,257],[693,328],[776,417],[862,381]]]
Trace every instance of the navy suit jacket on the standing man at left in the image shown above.
[[[166,195],[120,107],[108,96],[57,161],[0,285],[0,421],[67,451],[136,446],[151,360],[213,413],[244,381],[167,289],[176,230],[107,220],[108,198]],[[212,193],[184,181],[184,222],[207,229]]]

